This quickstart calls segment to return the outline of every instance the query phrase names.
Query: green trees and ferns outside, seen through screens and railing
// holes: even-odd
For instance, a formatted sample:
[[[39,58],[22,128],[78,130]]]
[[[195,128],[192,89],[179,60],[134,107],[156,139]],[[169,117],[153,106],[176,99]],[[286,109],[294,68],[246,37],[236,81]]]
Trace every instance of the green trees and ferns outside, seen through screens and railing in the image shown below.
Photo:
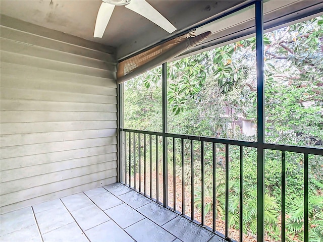
[[[323,140],[323,20],[321,17],[266,33],[265,141],[315,145]],[[125,84],[125,127],[161,132],[161,69]],[[168,131],[170,133],[256,141],[233,123],[256,122],[255,37],[168,64]],[[177,145],[178,146],[178,145]],[[316,146],[317,147],[317,146]],[[161,154],[161,145],[159,154]],[[153,156],[155,148],[153,148]],[[169,147],[170,149],[170,147]],[[177,151],[180,147],[177,147]],[[205,213],[212,212],[212,153],[205,144]],[[200,160],[200,148],[194,151]],[[142,152],[143,153],[143,152]],[[190,146],[185,143],[185,183],[190,175]],[[257,151],[244,149],[244,232],[256,233]],[[153,157],[155,160],[155,157]],[[172,150],[168,160],[173,161]],[[224,218],[225,149],[217,144],[217,216]],[[286,152],[286,227],[288,239],[302,238],[304,157]],[[176,164],[181,156],[176,154]],[[239,147],[230,146],[229,226],[239,225]],[[200,175],[200,165],[194,164]],[[323,241],[323,157],[309,158],[310,241]],[[188,179],[188,180],[187,180]],[[280,239],[281,152],[265,153],[265,232]],[[200,188],[194,206],[201,211]]]

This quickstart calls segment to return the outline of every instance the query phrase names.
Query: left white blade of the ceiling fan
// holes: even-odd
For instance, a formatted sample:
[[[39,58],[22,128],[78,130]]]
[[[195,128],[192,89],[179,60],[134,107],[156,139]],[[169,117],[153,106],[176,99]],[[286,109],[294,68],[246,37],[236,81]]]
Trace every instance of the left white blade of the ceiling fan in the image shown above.
[[[115,6],[112,4],[106,4],[102,2],[99,12],[97,13],[95,28],[94,28],[94,38],[102,38],[105,31],[107,23],[111,18],[112,12]]]

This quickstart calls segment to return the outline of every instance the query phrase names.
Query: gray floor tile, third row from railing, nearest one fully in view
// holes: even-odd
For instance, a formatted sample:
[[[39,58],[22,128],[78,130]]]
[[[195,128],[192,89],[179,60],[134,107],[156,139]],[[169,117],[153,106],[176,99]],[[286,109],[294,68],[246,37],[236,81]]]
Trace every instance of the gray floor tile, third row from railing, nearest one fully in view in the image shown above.
[[[71,213],[83,231],[110,220],[110,218],[94,204]]]

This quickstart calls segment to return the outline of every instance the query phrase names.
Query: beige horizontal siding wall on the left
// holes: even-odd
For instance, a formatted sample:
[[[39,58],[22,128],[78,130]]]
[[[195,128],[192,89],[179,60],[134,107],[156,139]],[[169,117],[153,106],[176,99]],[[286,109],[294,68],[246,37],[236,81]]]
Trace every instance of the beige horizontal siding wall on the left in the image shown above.
[[[114,49],[1,16],[1,213],[117,180]]]

